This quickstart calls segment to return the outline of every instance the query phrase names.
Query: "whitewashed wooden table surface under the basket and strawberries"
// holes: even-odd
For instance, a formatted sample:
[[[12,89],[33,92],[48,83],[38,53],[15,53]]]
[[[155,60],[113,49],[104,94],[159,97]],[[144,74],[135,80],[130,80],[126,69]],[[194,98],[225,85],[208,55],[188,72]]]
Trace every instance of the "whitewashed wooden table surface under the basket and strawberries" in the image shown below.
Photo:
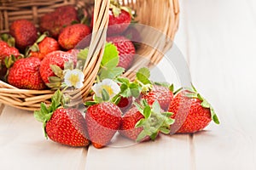
[[[130,147],[70,148],[44,139],[32,112],[0,106],[0,169],[256,169],[256,3],[180,0],[175,42],[221,124]],[[160,64],[161,65],[161,64]]]

